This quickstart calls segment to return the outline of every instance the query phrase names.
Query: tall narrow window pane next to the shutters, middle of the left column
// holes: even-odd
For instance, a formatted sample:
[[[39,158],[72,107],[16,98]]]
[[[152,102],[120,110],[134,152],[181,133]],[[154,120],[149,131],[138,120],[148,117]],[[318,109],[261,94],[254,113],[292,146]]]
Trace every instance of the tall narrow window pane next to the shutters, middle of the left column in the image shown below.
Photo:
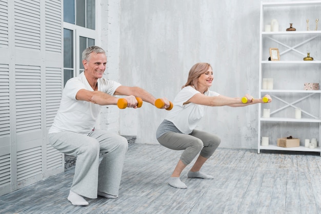
[[[73,31],[64,29],[64,68],[73,68]]]

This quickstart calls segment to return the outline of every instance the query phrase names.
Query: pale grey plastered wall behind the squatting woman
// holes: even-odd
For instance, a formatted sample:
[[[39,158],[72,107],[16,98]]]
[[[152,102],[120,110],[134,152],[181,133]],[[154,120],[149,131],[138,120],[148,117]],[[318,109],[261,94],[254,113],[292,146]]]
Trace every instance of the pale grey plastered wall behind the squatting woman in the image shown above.
[[[123,0],[120,8],[121,83],[172,100],[189,69],[196,62],[209,62],[212,91],[259,96],[260,1]],[[166,113],[149,103],[122,110],[119,134],[157,144],[155,132]],[[219,135],[220,147],[257,148],[257,114],[257,105],[209,108],[199,129]]]

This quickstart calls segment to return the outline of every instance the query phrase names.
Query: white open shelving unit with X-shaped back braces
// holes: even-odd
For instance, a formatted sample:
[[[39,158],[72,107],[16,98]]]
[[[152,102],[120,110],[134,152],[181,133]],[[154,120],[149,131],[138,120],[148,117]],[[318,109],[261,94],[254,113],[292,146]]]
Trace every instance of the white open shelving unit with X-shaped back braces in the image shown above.
[[[318,152],[321,155],[321,91],[304,90],[305,82],[321,86],[321,1],[261,3],[259,37],[259,97],[269,94],[272,102],[259,104],[258,144],[261,150]],[[319,16],[319,17],[317,17]],[[265,32],[265,25],[277,19],[279,30]],[[309,19],[309,22],[307,22]],[[296,31],[286,31],[293,24]],[[309,29],[308,29],[309,25]],[[269,61],[270,48],[279,50],[280,60]],[[310,53],[313,61],[305,61]],[[273,78],[273,89],[263,87],[263,78]],[[295,119],[295,109],[302,111]],[[270,117],[263,110],[270,109]],[[269,137],[269,145],[262,146],[262,137]],[[299,147],[279,147],[277,138],[300,139]],[[317,147],[305,147],[305,139],[317,138]]]

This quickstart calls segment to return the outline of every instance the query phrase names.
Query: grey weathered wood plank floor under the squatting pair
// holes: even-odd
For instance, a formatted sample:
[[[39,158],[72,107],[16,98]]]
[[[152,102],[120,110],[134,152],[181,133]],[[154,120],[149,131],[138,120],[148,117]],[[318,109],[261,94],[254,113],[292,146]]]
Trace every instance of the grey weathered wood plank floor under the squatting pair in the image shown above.
[[[180,151],[129,146],[117,199],[67,200],[74,168],[0,197],[0,213],[321,213],[321,158],[317,153],[261,153],[218,148],[203,172],[214,180],[167,180]]]

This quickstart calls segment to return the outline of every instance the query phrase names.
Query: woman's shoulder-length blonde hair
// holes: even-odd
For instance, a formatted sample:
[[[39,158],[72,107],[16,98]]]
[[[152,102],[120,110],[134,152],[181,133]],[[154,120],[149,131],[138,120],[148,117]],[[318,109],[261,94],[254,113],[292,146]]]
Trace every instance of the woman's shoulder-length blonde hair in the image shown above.
[[[190,72],[188,73],[187,82],[185,83],[185,85],[183,85],[182,89],[187,86],[193,86],[197,90],[198,77],[207,72],[209,68],[212,67],[207,62],[198,62],[194,66],[192,66]]]

